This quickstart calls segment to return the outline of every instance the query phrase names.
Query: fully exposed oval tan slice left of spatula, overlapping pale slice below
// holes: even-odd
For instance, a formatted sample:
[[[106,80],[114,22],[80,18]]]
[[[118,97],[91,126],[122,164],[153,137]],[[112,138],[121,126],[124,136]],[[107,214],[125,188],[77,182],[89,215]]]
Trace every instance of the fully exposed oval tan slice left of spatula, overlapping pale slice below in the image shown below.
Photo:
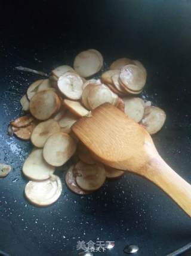
[[[61,166],[76,151],[76,143],[72,137],[63,132],[51,135],[44,144],[43,156],[48,164]]]

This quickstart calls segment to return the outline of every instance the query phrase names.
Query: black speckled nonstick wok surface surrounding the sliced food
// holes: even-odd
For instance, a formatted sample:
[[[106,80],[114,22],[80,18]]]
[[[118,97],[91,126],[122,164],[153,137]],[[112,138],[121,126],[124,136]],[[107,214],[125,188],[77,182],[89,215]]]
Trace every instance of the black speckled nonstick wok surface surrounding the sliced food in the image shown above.
[[[5,1],[4,1],[5,2]],[[105,68],[116,58],[139,59],[147,69],[143,95],[167,113],[153,136],[162,157],[184,179],[190,172],[190,1],[1,2],[0,162],[13,171],[0,180],[0,250],[11,255],[78,255],[78,240],[113,240],[98,255],[167,255],[190,242],[190,218],[155,185],[133,174],[108,181],[92,195],[67,189],[53,206],[38,208],[23,196],[21,166],[32,146],[7,135],[21,115],[19,100],[40,77],[19,65],[49,72],[72,65],[76,53],[94,48]],[[69,163],[63,167],[67,170]]]

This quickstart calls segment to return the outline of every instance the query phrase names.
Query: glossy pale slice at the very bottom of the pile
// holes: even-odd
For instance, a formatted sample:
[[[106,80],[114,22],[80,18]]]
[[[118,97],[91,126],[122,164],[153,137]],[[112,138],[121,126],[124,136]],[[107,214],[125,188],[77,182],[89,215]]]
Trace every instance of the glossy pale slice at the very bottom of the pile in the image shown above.
[[[44,181],[29,181],[25,186],[24,194],[35,206],[49,206],[58,200],[61,191],[60,178],[52,175],[50,179]]]

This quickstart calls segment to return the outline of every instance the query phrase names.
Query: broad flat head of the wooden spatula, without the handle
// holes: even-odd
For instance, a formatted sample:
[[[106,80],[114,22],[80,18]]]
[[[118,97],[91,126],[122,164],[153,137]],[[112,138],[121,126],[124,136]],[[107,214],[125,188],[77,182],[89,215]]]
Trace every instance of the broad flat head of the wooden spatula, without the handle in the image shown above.
[[[147,131],[110,104],[93,110],[72,130],[99,161],[121,170],[143,171],[147,151],[156,150]]]

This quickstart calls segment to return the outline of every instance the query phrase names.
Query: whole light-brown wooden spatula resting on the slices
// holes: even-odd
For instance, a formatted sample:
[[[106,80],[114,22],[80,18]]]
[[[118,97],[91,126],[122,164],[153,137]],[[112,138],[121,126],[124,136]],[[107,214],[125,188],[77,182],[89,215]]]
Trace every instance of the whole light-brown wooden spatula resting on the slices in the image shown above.
[[[72,131],[100,162],[146,177],[191,216],[191,185],[161,158],[146,129],[121,110],[103,104]]]

